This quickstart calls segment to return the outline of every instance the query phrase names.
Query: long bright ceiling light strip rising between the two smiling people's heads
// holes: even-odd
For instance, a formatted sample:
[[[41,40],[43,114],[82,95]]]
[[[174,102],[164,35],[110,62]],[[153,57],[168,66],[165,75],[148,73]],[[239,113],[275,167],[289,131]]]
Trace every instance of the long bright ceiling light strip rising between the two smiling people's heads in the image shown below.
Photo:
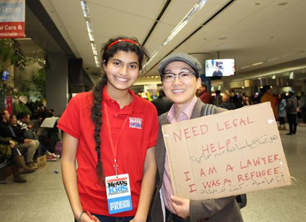
[[[182,21],[180,21],[180,23],[177,24],[177,26],[172,30],[172,32],[165,39],[165,41],[160,46],[158,46],[158,48],[152,53],[151,58],[149,59],[149,61],[147,61],[147,63],[144,65],[144,67],[150,61],[152,61],[152,59],[158,54],[158,52],[161,50],[161,48],[163,46],[168,44],[174,38],[174,36],[176,36],[176,34],[179,33],[186,26],[188,21],[190,21],[190,19],[206,4],[207,1],[208,0],[200,0],[197,4],[195,4],[193,6],[193,8],[187,13],[187,15],[185,15],[185,17],[182,19]]]

